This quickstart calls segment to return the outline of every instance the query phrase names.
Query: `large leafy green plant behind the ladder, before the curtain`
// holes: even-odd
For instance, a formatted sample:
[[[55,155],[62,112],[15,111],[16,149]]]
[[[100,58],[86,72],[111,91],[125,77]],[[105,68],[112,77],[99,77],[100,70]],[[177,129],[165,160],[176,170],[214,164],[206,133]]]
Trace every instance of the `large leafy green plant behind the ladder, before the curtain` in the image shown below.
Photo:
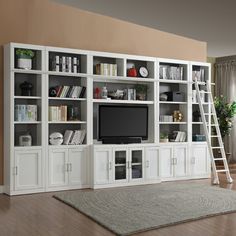
[[[228,103],[226,97],[219,96],[214,99],[216,114],[222,138],[230,134],[233,127],[233,118],[236,115],[236,102]]]

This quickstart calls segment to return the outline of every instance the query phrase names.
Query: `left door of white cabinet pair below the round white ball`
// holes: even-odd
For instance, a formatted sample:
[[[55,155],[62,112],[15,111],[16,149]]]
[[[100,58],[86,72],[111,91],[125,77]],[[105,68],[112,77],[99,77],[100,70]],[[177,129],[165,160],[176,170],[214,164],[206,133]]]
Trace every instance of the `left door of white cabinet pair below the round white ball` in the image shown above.
[[[68,184],[68,150],[50,149],[49,150],[49,187],[59,187]]]

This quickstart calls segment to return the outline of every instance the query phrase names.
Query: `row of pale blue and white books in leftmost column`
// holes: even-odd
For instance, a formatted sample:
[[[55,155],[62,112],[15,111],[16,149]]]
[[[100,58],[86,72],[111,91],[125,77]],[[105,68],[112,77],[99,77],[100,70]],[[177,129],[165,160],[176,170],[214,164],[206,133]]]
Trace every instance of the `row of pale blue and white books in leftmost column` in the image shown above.
[[[15,121],[37,121],[37,105],[15,105]]]

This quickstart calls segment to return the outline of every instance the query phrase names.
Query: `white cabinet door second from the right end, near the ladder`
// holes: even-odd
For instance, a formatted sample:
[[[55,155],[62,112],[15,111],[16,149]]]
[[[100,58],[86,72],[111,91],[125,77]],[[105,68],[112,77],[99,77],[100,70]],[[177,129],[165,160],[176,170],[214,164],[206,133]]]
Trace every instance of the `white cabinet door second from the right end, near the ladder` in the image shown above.
[[[175,176],[182,177],[188,174],[187,147],[174,147]]]

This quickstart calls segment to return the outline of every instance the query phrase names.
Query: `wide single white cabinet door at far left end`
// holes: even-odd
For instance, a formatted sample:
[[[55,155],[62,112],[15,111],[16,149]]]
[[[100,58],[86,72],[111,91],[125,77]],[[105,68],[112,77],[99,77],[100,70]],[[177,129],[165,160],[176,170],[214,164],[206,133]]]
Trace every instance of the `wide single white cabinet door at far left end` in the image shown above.
[[[42,188],[42,151],[15,151],[15,190]]]

